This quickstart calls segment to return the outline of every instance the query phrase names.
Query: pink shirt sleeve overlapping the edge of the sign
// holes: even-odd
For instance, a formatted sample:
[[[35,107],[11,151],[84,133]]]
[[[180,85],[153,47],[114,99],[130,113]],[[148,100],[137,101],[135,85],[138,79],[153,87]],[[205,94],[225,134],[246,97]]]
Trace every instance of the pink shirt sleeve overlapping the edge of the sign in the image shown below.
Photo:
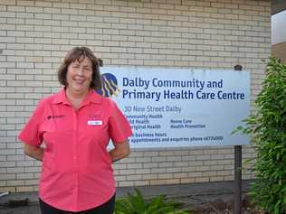
[[[116,103],[110,99],[109,133],[113,143],[120,143],[132,135],[129,121],[122,114]]]

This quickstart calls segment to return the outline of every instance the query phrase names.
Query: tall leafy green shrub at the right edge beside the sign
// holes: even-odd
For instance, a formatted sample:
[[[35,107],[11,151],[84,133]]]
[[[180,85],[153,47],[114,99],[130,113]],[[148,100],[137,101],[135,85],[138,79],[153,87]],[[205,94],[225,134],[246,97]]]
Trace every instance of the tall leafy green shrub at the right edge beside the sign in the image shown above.
[[[271,58],[262,91],[254,101],[256,112],[238,127],[252,135],[256,152],[252,185],[254,204],[273,214],[286,213],[286,65]]]

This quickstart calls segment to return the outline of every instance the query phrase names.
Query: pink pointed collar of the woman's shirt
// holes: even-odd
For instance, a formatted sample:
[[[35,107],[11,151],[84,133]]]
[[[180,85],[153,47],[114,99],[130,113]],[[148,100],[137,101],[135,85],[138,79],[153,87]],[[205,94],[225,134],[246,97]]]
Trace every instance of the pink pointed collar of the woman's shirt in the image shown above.
[[[102,96],[98,94],[95,90],[91,89],[86,96],[86,98],[83,99],[81,106],[88,105],[90,103],[101,103],[102,102]],[[71,105],[71,102],[68,100],[65,94],[65,88],[62,88],[53,98],[52,100],[53,104],[65,104],[65,105]]]

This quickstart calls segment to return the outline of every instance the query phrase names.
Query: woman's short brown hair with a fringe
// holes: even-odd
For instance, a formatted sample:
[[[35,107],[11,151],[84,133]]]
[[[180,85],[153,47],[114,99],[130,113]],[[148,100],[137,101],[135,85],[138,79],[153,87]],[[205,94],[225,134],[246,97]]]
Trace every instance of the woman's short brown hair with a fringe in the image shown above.
[[[94,56],[93,52],[87,47],[75,47],[71,49],[65,56],[62,64],[58,70],[58,79],[60,83],[67,87],[67,71],[69,65],[75,61],[81,61],[85,57],[88,57],[92,63],[92,80],[90,88],[100,89],[101,88],[101,78],[100,78],[100,60]]]

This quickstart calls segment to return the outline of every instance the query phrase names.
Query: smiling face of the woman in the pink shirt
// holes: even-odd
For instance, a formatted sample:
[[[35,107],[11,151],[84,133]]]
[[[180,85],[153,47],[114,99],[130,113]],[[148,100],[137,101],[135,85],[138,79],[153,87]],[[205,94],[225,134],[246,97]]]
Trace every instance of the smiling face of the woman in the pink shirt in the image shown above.
[[[75,93],[85,93],[90,89],[92,63],[88,57],[71,62],[67,70],[67,88]]]

